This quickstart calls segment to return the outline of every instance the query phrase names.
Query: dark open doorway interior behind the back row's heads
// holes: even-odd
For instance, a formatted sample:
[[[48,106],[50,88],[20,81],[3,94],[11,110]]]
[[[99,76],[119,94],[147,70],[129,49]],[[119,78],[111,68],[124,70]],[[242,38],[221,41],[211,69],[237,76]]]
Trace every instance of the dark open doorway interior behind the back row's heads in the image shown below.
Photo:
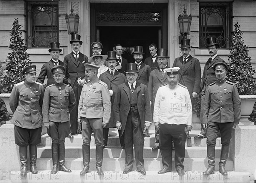
[[[148,46],[151,43],[159,45],[159,34],[161,27],[157,26],[99,26],[97,27],[99,40],[103,45],[102,54],[112,51],[116,44],[122,45],[123,48],[132,48],[134,46],[143,46],[143,61],[150,56]],[[129,63],[134,63],[131,52],[123,52]]]

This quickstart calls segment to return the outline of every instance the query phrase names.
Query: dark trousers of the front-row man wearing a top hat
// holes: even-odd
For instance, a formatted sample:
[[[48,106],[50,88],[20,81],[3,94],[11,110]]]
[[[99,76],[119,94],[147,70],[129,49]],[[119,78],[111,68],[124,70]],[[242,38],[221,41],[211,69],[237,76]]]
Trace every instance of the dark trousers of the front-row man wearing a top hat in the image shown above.
[[[125,169],[131,169],[133,166],[133,145],[135,152],[135,161],[137,169],[144,169],[143,148],[144,135],[141,128],[140,115],[138,109],[131,108],[125,125]]]

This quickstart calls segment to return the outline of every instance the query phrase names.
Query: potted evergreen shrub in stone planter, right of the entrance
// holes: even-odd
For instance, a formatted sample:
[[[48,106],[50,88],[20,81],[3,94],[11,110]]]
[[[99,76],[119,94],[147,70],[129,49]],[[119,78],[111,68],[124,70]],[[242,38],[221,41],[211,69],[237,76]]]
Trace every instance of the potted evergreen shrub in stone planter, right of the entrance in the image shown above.
[[[232,45],[228,55],[227,79],[236,84],[241,98],[241,122],[246,124],[256,101],[256,82],[253,78],[255,70],[252,67],[251,58],[248,56],[249,47],[242,40],[243,33],[240,25],[236,23],[234,27]],[[255,114],[254,111],[250,119],[255,120],[256,117],[253,116]]]

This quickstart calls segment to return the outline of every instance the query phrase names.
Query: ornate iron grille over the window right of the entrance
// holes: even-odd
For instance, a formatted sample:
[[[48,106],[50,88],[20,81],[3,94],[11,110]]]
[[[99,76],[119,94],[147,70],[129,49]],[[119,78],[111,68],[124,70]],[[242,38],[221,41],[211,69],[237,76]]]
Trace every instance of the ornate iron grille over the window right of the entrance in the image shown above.
[[[200,3],[200,47],[207,46],[208,37],[216,37],[220,48],[230,43],[230,4]]]

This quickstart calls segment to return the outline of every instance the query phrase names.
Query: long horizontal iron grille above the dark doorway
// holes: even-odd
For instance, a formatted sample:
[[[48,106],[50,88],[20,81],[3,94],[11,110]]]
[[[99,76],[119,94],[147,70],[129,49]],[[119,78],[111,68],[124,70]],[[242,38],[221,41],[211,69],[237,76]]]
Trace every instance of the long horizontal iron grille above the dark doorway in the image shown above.
[[[160,11],[97,11],[96,23],[161,23]]]

